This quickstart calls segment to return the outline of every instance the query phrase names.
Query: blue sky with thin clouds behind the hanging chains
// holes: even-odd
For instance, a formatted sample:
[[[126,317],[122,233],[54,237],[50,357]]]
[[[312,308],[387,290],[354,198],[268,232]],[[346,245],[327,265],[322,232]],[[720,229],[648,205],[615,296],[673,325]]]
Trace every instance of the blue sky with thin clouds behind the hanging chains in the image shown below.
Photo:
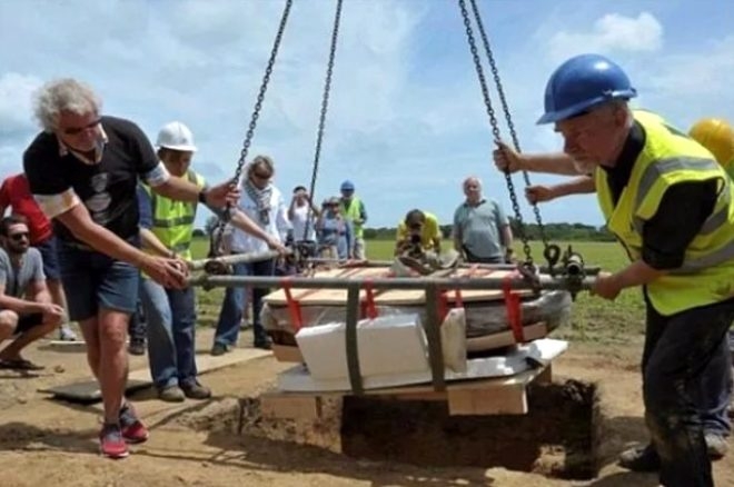
[[[317,200],[349,178],[369,226],[394,226],[415,207],[449,222],[462,180],[477,175],[509,210],[504,178],[489,162],[489,123],[456,2],[344,3]],[[478,3],[525,151],[561,147],[535,120],[549,73],[581,52],[619,62],[641,93],[636,103],[681,128],[707,116],[734,120],[734,9],[725,1]],[[136,121],[151,140],[168,121],[187,123],[200,149],[195,167],[210,181],[231,177],[282,4],[0,2],[0,176],[20,170],[37,132],[32,92],[76,77],[95,87],[105,113]],[[286,195],[310,178],[334,6],[294,1],[249,152],[275,159]],[[542,211],[547,221],[603,222],[588,196]],[[526,205],[523,212],[532,220]]]

